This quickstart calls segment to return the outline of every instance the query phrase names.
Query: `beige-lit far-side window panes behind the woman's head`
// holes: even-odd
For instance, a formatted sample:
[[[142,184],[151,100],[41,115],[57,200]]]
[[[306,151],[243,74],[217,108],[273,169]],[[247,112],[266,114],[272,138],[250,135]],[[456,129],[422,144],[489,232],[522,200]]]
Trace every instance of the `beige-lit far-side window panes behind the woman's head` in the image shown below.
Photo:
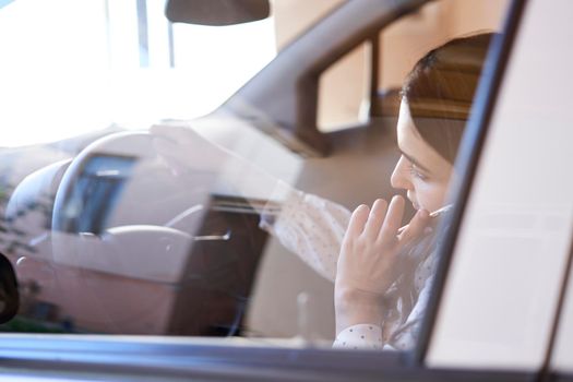
[[[378,55],[378,84],[370,84],[372,41],[348,52],[321,74],[318,129],[344,130],[368,123],[369,116],[397,116],[399,88],[416,61],[452,36],[498,31],[508,3],[434,1],[382,29],[373,52]],[[370,86],[378,89],[372,100]]]

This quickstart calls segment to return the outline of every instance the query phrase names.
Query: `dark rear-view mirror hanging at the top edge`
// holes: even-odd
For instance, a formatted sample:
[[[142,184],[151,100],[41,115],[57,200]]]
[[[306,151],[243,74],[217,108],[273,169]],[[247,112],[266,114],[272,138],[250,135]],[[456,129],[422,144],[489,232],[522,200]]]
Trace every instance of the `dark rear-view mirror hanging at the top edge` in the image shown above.
[[[172,23],[234,25],[268,17],[268,0],[167,0],[165,15]]]

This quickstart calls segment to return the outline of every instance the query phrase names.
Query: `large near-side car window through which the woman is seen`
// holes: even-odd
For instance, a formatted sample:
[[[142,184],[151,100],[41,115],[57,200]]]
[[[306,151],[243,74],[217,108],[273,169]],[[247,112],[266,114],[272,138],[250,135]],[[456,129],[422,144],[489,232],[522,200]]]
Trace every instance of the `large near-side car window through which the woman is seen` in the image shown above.
[[[17,15],[20,7],[61,15],[72,3],[20,0],[0,9],[0,17]],[[45,52],[53,71],[39,74],[31,74],[29,62],[20,68],[16,58],[11,61],[15,80],[9,89],[23,92],[17,79],[43,76],[34,86],[41,99],[68,106],[46,104],[50,116],[36,109],[39,99],[26,104],[22,95],[9,104],[16,111],[7,118],[23,141],[0,142],[0,248],[17,277],[20,308],[0,329],[411,350],[455,201],[447,190],[457,145],[504,7],[491,12],[480,1],[432,2],[377,29],[370,40],[378,49],[367,48],[371,41],[346,47],[318,73],[323,77],[308,106],[319,110],[317,124],[330,145],[327,154],[313,157],[284,145],[280,134],[289,127],[271,110],[258,110],[266,130],[229,109],[205,115],[275,55],[273,19],[226,32],[166,24],[154,35],[166,35],[157,48],[164,55],[154,56],[152,39],[150,55],[141,45],[131,53],[119,48],[128,39],[123,31],[138,40],[141,9],[92,3],[97,20],[77,9],[89,22],[64,24],[68,32],[89,33],[92,44],[77,35],[83,50]],[[146,12],[163,5],[146,4]],[[120,28],[116,12],[126,12],[131,27]],[[150,36],[165,23],[158,13],[147,21]],[[21,23],[12,27],[27,36]],[[216,36],[207,38],[212,32]],[[468,91],[463,99],[432,98],[435,89],[408,73],[430,49],[456,37],[419,71],[453,67],[444,81],[465,83]],[[59,38],[49,40],[59,47]],[[0,49],[13,52],[22,44]],[[72,58],[87,67],[77,69]],[[70,65],[80,72],[68,76]],[[105,79],[109,86],[100,83],[103,67],[114,69]],[[272,70],[270,62],[262,71]],[[100,93],[82,98],[77,77],[93,81]],[[398,115],[406,79],[408,106],[402,102]],[[63,98],[50,96],[58,84]],[[266,84],[271,94],[275,85]],[[81,92],[71,95],[69,86]],[[77,111],[74,102],[88,110]],[[93,111],[99,102],[109,102],[111,111]],[[274,102],[278,109],[291,106],[280,97]],[[31,106],[34,119],[23,123],[21,111]],[[60,122],[67,128],[49,140],[41,135]]]

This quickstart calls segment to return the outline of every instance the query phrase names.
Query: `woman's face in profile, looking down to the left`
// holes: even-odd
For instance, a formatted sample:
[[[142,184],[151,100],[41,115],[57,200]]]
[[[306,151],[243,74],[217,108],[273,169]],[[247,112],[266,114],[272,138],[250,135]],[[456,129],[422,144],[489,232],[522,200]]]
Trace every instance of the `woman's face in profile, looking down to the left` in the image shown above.
[[[443,206],[453,166],[423,141],[405,100],[396,129],[402,156],[392,172],[392,187],[406,190],[416,210],[431,213]]]

